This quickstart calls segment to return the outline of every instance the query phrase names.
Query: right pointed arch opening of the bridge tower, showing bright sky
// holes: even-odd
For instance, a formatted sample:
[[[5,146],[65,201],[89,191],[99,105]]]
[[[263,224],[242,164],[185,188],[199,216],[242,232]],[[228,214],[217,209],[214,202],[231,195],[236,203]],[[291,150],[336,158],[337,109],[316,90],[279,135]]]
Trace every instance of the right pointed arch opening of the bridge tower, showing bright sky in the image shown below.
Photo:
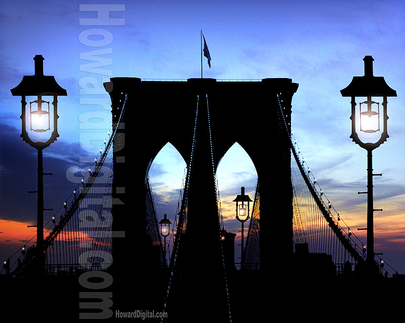
[[[254,200],[258,178],[257,171],[246,150],[235,142],[221,158],[216,174],[218,190],[220,191],[223,226],[227,232],[236,233],[234,259],[235,263],[240,263],[241,223],[236,219],[233,200],[236,195],[240,194],[241,187],[245,187],[245,194]],[[250,205],[250,211],[252,211],[253,202]],[[244,224],[245,242],[249,221]]]

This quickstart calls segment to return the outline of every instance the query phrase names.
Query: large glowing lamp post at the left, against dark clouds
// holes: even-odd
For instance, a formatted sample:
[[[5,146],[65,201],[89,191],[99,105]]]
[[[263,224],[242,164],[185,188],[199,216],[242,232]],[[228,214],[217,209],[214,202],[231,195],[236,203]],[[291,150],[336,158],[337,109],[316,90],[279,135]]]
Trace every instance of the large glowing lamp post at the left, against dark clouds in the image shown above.
[[[36,256],[38,274],[43,274],[45,269],[44,257],[44,173],[43,150],[59,137],[58,134],[58,95],[67,95],[66,90],[61,88],[54,76],[44,75],[44,57],[35,55],[33,58],[35,66],[34,75],[23,76],[20,84],[10,90],[13,96],[21,96],[21,135],[23,141],[38,151],[38,190],[29,193],[37,193],[37,220],[36,220]],[[26,96],[34,97],[29,100],[29,111],[26,111]],[[53,109],[50,109],[50,101],[44,97],[53,97]],[[29,122],[26,118],[29,118]],[[52,133],[49,135],[49,132]],[[30,226],[28,226],[30,227]]]

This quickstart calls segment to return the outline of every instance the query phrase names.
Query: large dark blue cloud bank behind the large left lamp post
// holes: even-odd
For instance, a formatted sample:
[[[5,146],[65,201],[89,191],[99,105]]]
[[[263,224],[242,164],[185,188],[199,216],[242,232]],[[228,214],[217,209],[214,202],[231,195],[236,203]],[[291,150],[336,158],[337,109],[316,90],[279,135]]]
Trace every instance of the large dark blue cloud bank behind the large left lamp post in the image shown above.
[[[0,144],[0,217],[7,220],[36,219],[37,151],[20,138],[15,129],[2,125],[4,136]],[[66,170],[78,156],[77,145],[56,141],[44,150],[45,208],[57,210],[71,194],[76,183],[66,178]],[[77,165],[76,164],[76,165]],[[46,211],[44,217],[52,217]]]

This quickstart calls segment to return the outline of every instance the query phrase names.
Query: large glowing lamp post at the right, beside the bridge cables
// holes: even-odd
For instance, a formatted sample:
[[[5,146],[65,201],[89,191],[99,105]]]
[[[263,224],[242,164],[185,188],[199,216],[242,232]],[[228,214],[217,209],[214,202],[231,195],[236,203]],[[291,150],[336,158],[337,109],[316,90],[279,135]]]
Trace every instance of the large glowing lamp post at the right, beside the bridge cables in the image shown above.
[[[351,97],[351,135],[350,138],[360,147],[367,150],[367,263],[369,268],[374,266],[374,212],[382,211],[374,209],[373,202],[373,154],[372,151],[383,144],[388,136],[387,133],[387,97],[395,97],[396,91],[391,89],[383,76],[373,75],[373,57],[363,58],[364,76],[354,76],[351,83],[343,90],[343,97]],[[356,103],[356,97],[358,104]],[[382,97],[382,113],[380,102],[373,97]],[[358,108],[356,108],[356,105]],[[356,119],[356,115],[358,119]]]

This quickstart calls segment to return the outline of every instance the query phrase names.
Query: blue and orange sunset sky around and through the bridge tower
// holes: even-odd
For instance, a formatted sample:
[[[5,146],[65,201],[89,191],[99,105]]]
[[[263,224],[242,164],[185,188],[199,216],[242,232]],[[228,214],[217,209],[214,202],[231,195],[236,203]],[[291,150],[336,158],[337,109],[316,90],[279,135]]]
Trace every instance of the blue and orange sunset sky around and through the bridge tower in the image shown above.
[[[87,25],[80,19],[97,13],[80,5],[111,5],[116,25]],[[94,7],[93,7],[94,8]],[[32,58],[43,55],[44,74],[54,75],[67,90],[58,98],[60,137],[44,150],[45,208],[59,209],[75,188],[75,178],[105,136],[97,118],[108,104],[86,104],[88,82],[101,87],[110,77],[187,79],[200,77],[200,31],[211,54],[204,77],[262,79],[287,77],[299,84],[292,101],[292,129],[306,164],[346,223],[366,227],[367,152],[349,138],[350,98],[342,97],[353,76],[364,73],[363,57],[374,58],[374,75],[384,76],[397,91],[388,98],[389,138],[373,153],[375,251],[396,271],[405,273],[405,4],[401,1],[14,1],[0,11],[0,258],[6,259],[35,235],[36,150],[21,133],[21,98],[13,97],[23,75],[32,75]],[[98,29],[96,31],[89,29]],[[94,35],[99,32],[101,35]],[[93,35],[92,35],[93,34]],[[95,47],[103,40],[105,46]],[[99,74],[89,73],[91,51],[107,60]],[[92,77],[89,81],[89,78]],[[80,90],[82,92],[80,92]],[[88,113],[88,114],[86,114]],[[88,115],[95,128],[89,130]],[[254,140],[254,134],[247,134]],[[94,144],[94,145],[93,145]],[[96,147],[96,148],[95,148]],[[270,149],[268,147],[266,149]],[[158,219],[174,221],[185,161],[168,144],[149,172]],[[217,169],[225,229],[237,233],[232,200],[245,186],[253,198],[257,180],[249,156],[235,144]],[[45,213],[45,219],[52,217]],[[245,224],[245,227],[247,225]],[[365,231],[356,232],[366,241]],[[245,231],[246,234],[246,231]],[[363,235],[362,235],[363,234]]]

